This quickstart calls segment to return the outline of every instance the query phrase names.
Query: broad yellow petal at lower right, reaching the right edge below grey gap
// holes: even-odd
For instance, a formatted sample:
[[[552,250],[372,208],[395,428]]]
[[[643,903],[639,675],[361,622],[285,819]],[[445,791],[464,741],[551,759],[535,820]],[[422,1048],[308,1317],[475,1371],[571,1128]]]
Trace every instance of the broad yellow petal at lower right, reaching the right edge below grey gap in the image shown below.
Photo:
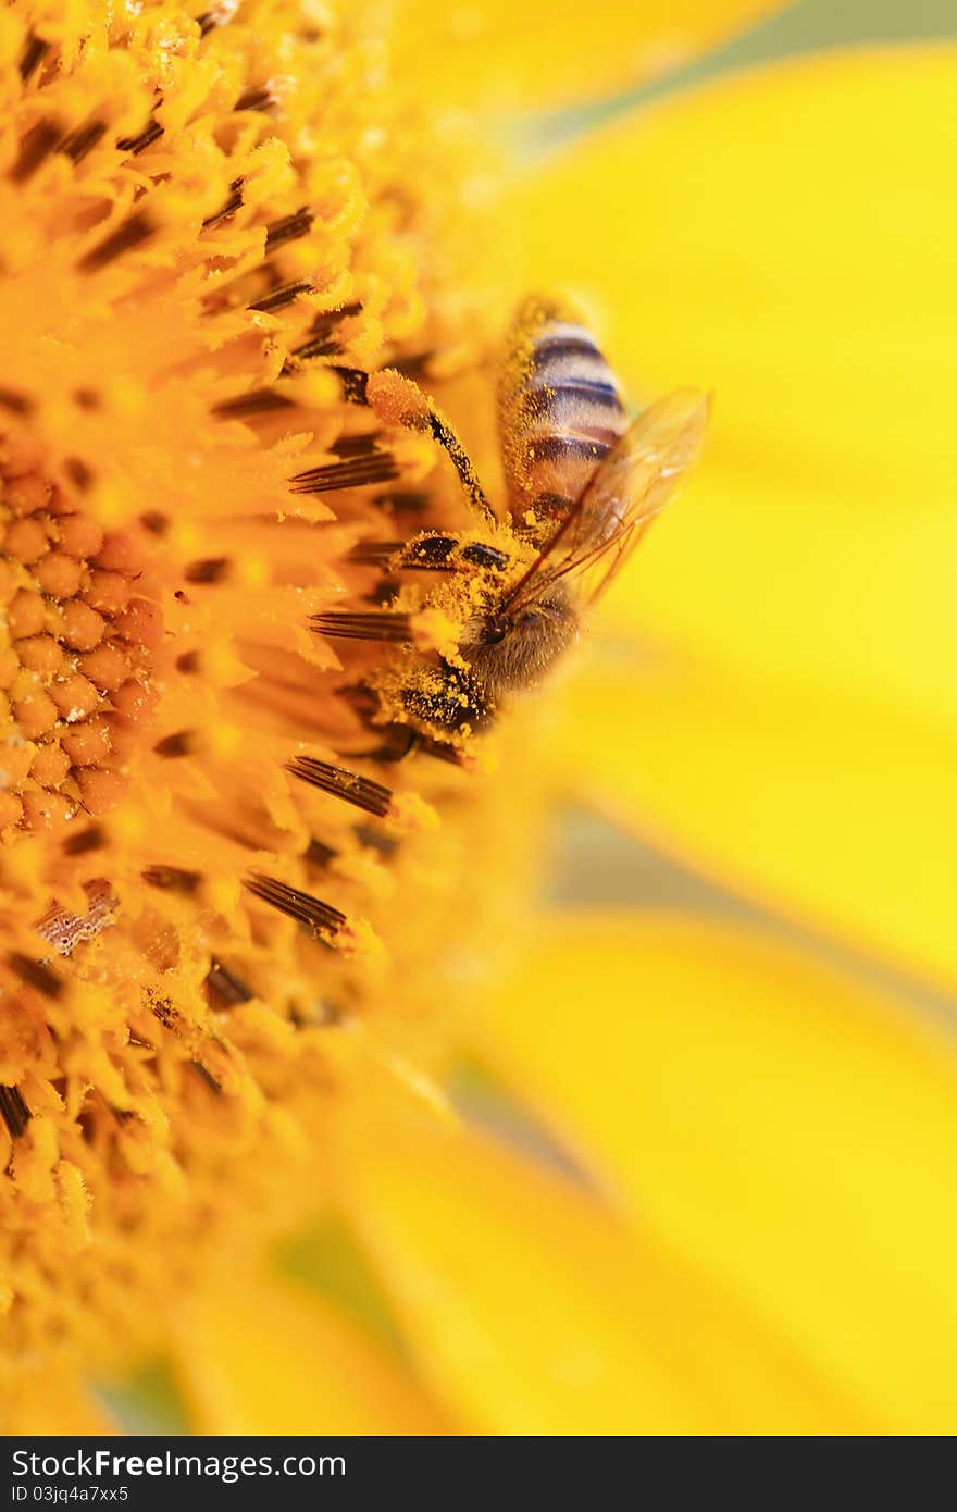
[[[488,1024],[643,1223],[886,1430],[954,1432],[948,1025],[756,933],[635,913],[543,922]]]

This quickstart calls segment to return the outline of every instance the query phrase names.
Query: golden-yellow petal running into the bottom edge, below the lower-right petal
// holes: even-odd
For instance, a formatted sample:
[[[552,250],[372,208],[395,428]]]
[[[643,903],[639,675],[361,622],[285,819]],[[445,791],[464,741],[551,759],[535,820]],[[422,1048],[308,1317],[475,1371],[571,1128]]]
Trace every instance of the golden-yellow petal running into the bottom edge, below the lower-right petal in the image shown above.
[[[470,1432],[872,1427],[747,1302],[590,1194],[434,1123],[349,1134],[354,1222]]]

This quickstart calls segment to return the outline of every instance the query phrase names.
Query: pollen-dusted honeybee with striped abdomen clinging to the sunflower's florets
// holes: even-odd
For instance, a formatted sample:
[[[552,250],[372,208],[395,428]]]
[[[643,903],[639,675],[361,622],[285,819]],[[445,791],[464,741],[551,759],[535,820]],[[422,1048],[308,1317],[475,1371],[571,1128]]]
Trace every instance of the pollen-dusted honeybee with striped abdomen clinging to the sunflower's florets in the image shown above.
[[[405,543],[363,543],[357,562],[428,573],[378,614],[314,617],[324,635],[402,644],[370,674],[376,724],[429,745],[458,745],[513,694],[535,688],[578,640],[582,620],[697,461],[708,399],[677,390],[629,420],[621,387],[581,318],[528,299],[499,364],[499,519],[461,440],[398,372],[369,376],[366,402],[387,428],[429,434],[455,467],[470,528]],[[423,626],[444,626],[423,647]]]

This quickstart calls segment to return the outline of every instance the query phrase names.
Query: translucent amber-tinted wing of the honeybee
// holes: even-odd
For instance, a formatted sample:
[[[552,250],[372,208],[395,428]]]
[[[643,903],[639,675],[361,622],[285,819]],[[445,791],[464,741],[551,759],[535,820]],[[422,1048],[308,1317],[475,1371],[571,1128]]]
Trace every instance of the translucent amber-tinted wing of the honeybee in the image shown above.
[[[597,599],[697,463],[709,410],[709,398],[695,389],[650,405],[600,464],[509,603],[541,594],[568,573],[587,579],[587,600]]]

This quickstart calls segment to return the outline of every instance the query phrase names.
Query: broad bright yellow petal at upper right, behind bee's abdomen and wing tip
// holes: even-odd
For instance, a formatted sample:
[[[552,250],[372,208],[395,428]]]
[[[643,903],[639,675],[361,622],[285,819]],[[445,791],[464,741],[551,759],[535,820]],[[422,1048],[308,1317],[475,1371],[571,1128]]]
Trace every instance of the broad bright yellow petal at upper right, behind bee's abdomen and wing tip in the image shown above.
[[[768,478],[913,503],[954,457],[955,86],[940,44],[674,95],[534,165],[520,277],[591,290],[646,390],[714,387]]]

